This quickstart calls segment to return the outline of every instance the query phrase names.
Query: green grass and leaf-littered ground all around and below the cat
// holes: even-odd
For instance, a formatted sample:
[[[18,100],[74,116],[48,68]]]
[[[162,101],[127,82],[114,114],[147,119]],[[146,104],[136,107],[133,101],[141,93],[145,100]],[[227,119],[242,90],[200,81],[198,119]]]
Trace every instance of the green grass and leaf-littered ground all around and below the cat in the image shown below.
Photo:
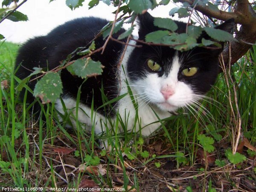
[[[218,177],[229,182],[227,189],[233,189],[236,182],[235,173],[219,175],[214,170],[217,166],[213,165],[212,168],[200,164],[202,159],[198,159],[196,151],[202,147],[207,151],[209,143],[199,143],[198,136],[204,134],[208,140],[208,137],[213,138],[213,156],[224,160],[227,169],[234,169],[232,164],[228,163],[229,158],[225,156],[225,151],[235,146],[239,112],[241,133],[249,139],[251,145],[256,144],[256,48],[231,68],[232,80],[228,74],[227,81],[224,73],[219,75],[215,86],[207,94],[212,99],[205,98],[198,106],[179,110],[177,116],[171,116],[165,121],[159,119],[163,128],[151,136],[147,144],[145,138],[134,133],[117,133],[118,127],[125,130],[124,119],[117,118],[113,124],[105,124],[110,126],[107,129],[109,131],[106,135],[96,136],[94,127],[90,135],[77,120],[77,129],[65,128],[65,123],[70,118],[77,119],[78,110],[74,115],[67,111],[63,117],[64,122],[60,122],[54,107],[48,104],[47,110],[44,111],[46,121],[31,118],[31,106],[20,101],[18,79],[12,71],[18,46],[9,42],[0,42],[0,45],[0,80],[2,82],[7,79],[9,85],[8,88],[0,90],[0,186],[43,187],[47,190],[49,187],[78,187],[81,181],[93,180],[95,185],[100,187],[122,186],[125,191],[140,191],[147,190],[144,183],[151,187],[157,185],[160,190],[167,189],[167,186],[173,189],[182,186],[186,189],[196,180],[199,189],[203,190],[209,185],[211,188],[218,188]],[[113,102],[108,101],[103,93],[102,96],[106,104]],[[79,97],[80,92],[77,105]],[[134,106],[136,107],[136,102]],[[91,113],[93,116],[95,112],[92,110]],[[140,117],[137,116],[137,121],[139,120]],[[99,149],[97,139],[108,139],[113,150],[106,152]],[[130,142],[132,140],[134,143]],[[160,146],[160,150],[157,146]],[[245,150],[247,149],[244,148],[242,153],[248,157]],[[62,155],[61,151],[67,154]],[[124,153],[126,156],[122,155]],[[182,183],[175,183],[172,175],[171,178],[165,175],[165,182],[159,175],[163,172],[172,174],[167,168],[163,168],[165,164],[169,164],[167,161],[174,162],[172,169],[186,170],[187,166],[191,166],[194,171],[192,176],[189,175],[191,179],[181,179]],[[242,174],[243,176],[239,176],[242,180],[252,179],[255,182],[255,177],[250,176],[255,174],[253,166],[246,169],[247,162],[251,161],[236,164],[236,170],[240,170],[237,175]],[[102,165],[106,174],[78,171],[81,164],[89,167],[88,169],[93,168],[90,166]],[[218,169],[221,170],[224,168]],[[179,178],[183,178],[182,174],[183,172],[177,171]],[[243,187],[244,190],[247,189],[246,186]]]

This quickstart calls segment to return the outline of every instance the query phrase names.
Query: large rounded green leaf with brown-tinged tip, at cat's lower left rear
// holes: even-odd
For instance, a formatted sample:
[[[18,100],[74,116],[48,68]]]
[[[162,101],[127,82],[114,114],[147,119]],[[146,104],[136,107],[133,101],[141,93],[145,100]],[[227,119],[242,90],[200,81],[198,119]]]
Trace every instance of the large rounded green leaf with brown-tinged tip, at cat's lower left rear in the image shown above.
[[[55,102],[62,93],[62,88],[60,75],[49,72],[35,85],[34,96],[40,97],[43,104]]]

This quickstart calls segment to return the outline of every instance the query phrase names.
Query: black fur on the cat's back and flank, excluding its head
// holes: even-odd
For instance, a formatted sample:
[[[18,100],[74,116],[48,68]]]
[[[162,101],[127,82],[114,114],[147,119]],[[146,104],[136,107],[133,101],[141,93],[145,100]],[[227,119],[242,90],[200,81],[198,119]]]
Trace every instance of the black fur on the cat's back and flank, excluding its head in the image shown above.
[[[107,20],[100,18],[79,18],[58,26],[47,36],[35,37],[29,40],[18,52],[16,66],[19,66],[19,68],[16,75],[20,79],[24,79],[26,76],[29,76],[34,67],[48,68],[48,70],[57,67],[60,65],[60,62],[66,59],[76,48],[87,46],[102,27],[107,24]],[[124,29],[121,29],[117,34],[114,34],[113,37],[117,38],[119,34],[124,31]],[[97,38],[95,40],[96,48],[102,47],[104,42],[105,40],[103,40],[102,37]],[[102,93],[100,91],[102,84],[108,99],[111,100],[117,96],[117,87],[113,87],[113,85],[116,83],[116,61],[119,59],[119,55],[122,54],[122,49],[122,44],[112,41],[106,46],[104,54],[98,52],[91,56],[93,60],[100,61],[105,68],[102,75],[89,78],[84,82],[81,88],[81,102],[83,104],[91,106],[93,98],[95,108],[102,105]],[[74,57],[74,59],[78,58],[79,56]],[[64,69],[61,71],[61,80],[63,84],[63,94],[68,94],[76,98],[79,86],[84,79],[73,76]],[[33,90],[35,84],[36,81],[30,82],[29,87]],[[22,97],[24,93],[25,89],[22,90]],[[27,102],[32,103],[34,99],[34,96],[28,93]],[[35,104],[35,111],[38,110],[40,110],[40,106]],[[103,109],[99,110],[99,112],[105,114]],[[108,114],[108,111],[106,112]]]

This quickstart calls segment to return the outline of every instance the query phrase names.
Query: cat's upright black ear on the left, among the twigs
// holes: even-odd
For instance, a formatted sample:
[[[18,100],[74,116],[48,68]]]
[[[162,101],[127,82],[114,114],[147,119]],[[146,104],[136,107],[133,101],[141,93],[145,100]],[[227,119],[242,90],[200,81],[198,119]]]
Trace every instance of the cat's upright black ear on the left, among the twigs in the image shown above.
[[[148,33],[151,33],[152,31],[155,31],[154,26],[154,17],[151,16],[148,12],[145,12],[144,14],[138,15],[138,22],[139,22],[139,39],[144,40],[145,35]]]

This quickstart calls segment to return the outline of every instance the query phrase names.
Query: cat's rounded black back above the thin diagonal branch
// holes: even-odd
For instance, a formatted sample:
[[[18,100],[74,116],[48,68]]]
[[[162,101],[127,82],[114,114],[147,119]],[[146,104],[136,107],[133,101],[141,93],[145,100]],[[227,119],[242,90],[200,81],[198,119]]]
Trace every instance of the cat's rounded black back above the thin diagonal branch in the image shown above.
[[[108,21],[105,19],[82,17],[59,25],[45,36],[29,39],[17,54],[17,76],[25,78],[34,67],[55,68],[76,48],[93,40],[106,24]]]

